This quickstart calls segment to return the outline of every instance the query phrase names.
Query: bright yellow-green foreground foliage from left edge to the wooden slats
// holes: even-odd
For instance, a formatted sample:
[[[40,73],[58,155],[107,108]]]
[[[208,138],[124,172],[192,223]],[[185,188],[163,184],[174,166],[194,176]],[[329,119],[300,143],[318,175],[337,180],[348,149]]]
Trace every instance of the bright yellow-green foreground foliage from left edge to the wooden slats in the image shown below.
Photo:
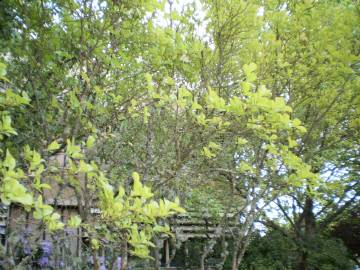
[[[0,79],[6,79],[5,66],[0,65]],[[6,90],[1,94],[1,116],[0,125],[1,139],[4,136],[16,135],[16,131],[11,126],[11,117],[7,111],[10,107],[28,105],[29,99],[26,95],[20,96],[12,90]],[[86,149],[94,146],[95,137],[89,136],[87,141],[83,143]],[[61,145],[57,141],[53,141],[47,151],[50,154],[60,149]],[[43,172],[46,170],[46,164],[41,155],[27,145],[24,148],[24,162],[27,171],[24,172],[17,167],[16,160],[8,149],[3,151],[5,154],[3,160],[0,161],[0,193],[1,201],[5,204],[19,203],[27,211],[32,211],[33,216],[37,220],[42,220],[50,232],[63,229],[66,224],[60,221],[61,216],[54,211],[54,208],[43,202],[43,189],[51,189],[47,183],[42,183]],[[175,202],[166,199],[155,201],[152,199],[153,193],[150,188],[142,185],[140,176],[134,172],[133,188],[130,194],[126,194],[123,187],[118,188],[115,195],[114,188],[109,184],[104,173],[101,172],[94,162],[86,162],[84,160],[83,149],[80,145],[75,144],[74,140],[66,142],[66,157],[68,160],[68,175],[71,179],[70,184],[75,188],[80,188],[79,174],[85,175],[90,181],[90,186],[98,189],[97,200],[98,207],[101,212],[101,218],[95,223],[85,224],[79,216],[72,216],[68,221],[69,228],[78,228],[83,226],[90,231],[96,231],[97,224],[106,224],[109,232],[113,233],[111,239],[116,241],[127,241],[131,246],[131,253],[135,256],[147,258],[149,257],[149,247],[153,246],[150,242],[155,233],[170,234],[170,228],[164,223],[164,219],[177,213],[184,213],[185,210],[179,206],[179,200]],[[55,170],[56,171],[56,170]],[[24,185],[23,181],[31,182],[31,185]],[[91,184],[92,183],[92,184]],[[93,226],[93,228],[89,228]],[[116,232],[120,232],[119,238],[116,238]],[[103,235],[94,235],[92,238],[92,246],[94,249],[100,247],[101,241],[97,239]],[[106,237],[105,237],[106,238]],[[121,240],[120,240],[121,239]]]

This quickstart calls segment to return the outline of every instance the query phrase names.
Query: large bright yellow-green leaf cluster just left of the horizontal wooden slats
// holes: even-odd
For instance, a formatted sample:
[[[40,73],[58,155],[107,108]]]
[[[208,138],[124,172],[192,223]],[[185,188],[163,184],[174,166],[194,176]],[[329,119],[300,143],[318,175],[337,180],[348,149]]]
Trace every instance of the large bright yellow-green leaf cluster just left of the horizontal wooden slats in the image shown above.
[[[168,226],[157,223],[177,213],[185,213],[185,209],[179,205],[179,199],[174,202],[163,199],[159,202],[152,200],[151,189],[144,186],[137,172],[132,173],[134,181],[130,196],[126,195],[123,187],[119,187],[118,194],[114,197],[112,186],[107,179],[100,177],[98,185],[101,189],[100,209],[101,215],[108,221],[112,221],[117,229],[121,229],[129,237],[132,246],[131,253],[141,258],[149,257],[149,247],[153,244],[150,239],[155,233],[169,233]],[[146,224],[146,229],[138,224]]]

